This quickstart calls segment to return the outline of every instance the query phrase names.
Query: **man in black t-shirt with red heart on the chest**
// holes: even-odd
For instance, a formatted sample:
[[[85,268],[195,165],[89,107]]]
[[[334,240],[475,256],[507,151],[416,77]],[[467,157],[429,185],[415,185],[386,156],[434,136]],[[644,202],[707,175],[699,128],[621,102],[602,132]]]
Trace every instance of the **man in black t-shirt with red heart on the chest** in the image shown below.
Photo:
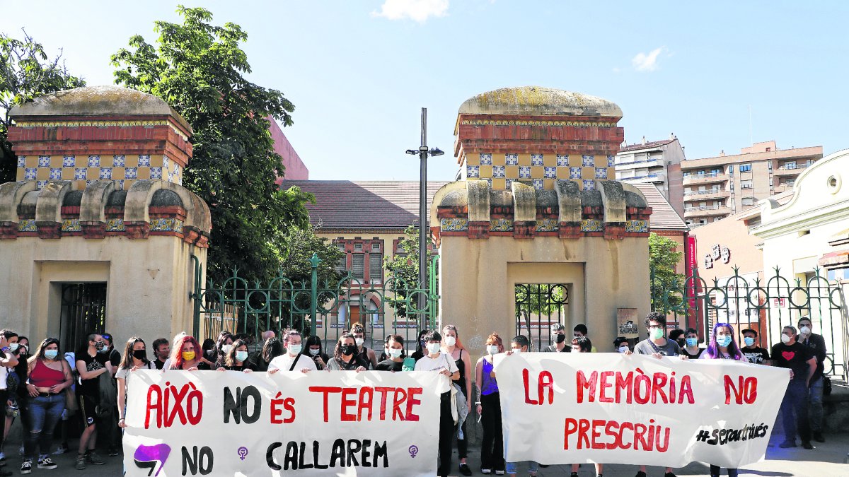
[[[781,418],[784,424],[784,442],[779,447],[796,447],[798,427],[801,446],[812,449],[811,428],[807,419],[807,388],[817,370],[817,359],[805,345],[796,342],[796,328],[785,326],[781,343],[773,345],[771,356],[775,366],[790,369],[790,384],[781,401]],[[793,413],[796,412],[796,418]]]

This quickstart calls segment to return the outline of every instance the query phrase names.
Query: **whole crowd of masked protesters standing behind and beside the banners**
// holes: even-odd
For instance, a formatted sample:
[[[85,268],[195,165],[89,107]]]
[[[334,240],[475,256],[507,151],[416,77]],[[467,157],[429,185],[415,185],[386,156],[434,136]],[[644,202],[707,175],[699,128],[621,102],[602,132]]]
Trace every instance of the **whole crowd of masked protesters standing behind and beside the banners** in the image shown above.
[[[730,324],[716,323],[702,347],[693,328],[672,330],[667,337],[666,317],[652,312],[645,318],[649,334],[646,340],[632,347],[628,340],[619,337],[611,351],[657,358],[729,359],[788,368],[791,379],[781,403],[784,441],[780,446],[795,447],[798,435],[801,446],[812,449],[812,440],[824,441],[822,397],[826,350],[823,337],[812,333],[808,317],[802,317],[798,325],[798,330],[784,327],[782,342],[767,351],[757,345],[756,330],[742,330],[744,343],[738,344]],[[538,351],[597,352],[588,338],[586,325],[576,325],[571,340],[560,323],[554,323],[550,331],[551,344]],[[466,439],[466,420],[471,415],[480,416],[483,429],[481,474],[517,474],[519,463],[504,459],[506,449],[494,356],[534,351],[527,336],[515,336],[505,345],[497,333],[490,334],[483,356],[476,359],[473,367],[473,356],[461,342],[458,328],[450,324],[441,330],[422,330],[415,343],[406,345],[401,335],[387,334],[382,351],[365,346],[365,334],[361,324],[353,323],[340,334],[333,349],[325,352],[323,340],[318,336],[304,339],[300,332],[290,329],[278,338],[273,331],[267,331],[261,334],[261,341],[251,352],[252,337],[227,331],[222,331],[216,340],[205,340],[203,345],[188,334],[177,334],[172,340],[158,338],[149,347],[143,339],[133,336],[121,351],[115,348],[110,334],[92,333],[76,350],[70,351],[61,350],[55,338],[31,345],[25,336],[9,329],[0,330],[0,402],[2,415],[6,416],[5,432],[0,433],[0,477],[12,474],[3,467],[6,465],[3,444],[19,416],[23,429],[21,474],[30,474],[33,467],[56,469],[57,464],[50,456],[70,452],[68,436],[75,427],[81,430],[76,469],[105,463],[96,451],[98,444],[110,456],[120,455],[121,429],[126,427],[127,377],[137,369],[272,374],[367,370],[441,373],[444,379],[439,384],[437,474],[447,475],[452,469],[455,440],[459,472],[473,474],[467,463]],[[410,348],[415,351],[407,356]],[[61,443],[52,452],[57,432]],[[529,462],[527,467],[532,477],[541,465]],[[602,477],[603,463],[595,463],[593,470],[597,477]],[[711,465],[711,475],[719,475],[720,470]],[[577,477],[578,471],[579,464],[573,464],[571,477]],[[674,475],[673,469],[665,470],[665,477]],[[728,469],[728,475],[737,475],[737,469]],[[646,469],[640,467],[636,477],[646,477]]]

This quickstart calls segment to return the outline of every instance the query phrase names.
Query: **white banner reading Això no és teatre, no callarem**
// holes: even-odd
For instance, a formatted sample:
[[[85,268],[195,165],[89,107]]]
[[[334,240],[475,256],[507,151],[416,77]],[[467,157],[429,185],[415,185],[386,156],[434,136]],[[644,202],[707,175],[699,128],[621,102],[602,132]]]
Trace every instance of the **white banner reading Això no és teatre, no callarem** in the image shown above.
[[[437,373],[137,370],[127,475],[436,474]]]

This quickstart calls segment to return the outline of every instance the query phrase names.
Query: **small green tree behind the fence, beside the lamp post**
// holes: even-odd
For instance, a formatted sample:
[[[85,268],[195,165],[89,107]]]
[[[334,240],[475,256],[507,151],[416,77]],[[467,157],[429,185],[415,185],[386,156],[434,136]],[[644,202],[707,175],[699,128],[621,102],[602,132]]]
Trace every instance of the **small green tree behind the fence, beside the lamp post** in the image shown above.
[[[391,291],[391,296],[385,298],[385,303],[392,306],[396,310],[398,317],[403,317],[407,314],[407,299],[413,300],[413,306],[419,300],[415,294],[411,296],[410,290],[427,289],[430,285],[430,263],[436,255],[430,250],[427,251],[427,283],[423,287],[419,287],[419,226],[411,225],[404,230],[404,238],[399,244],[402,252],[392,256],[386,256],[383,259],[384,268],[390,272],[393,281],[387,287],[387,291]],[[436,290],[434,290],[436,293]],[[434,316],[436,316],[434,314]]]

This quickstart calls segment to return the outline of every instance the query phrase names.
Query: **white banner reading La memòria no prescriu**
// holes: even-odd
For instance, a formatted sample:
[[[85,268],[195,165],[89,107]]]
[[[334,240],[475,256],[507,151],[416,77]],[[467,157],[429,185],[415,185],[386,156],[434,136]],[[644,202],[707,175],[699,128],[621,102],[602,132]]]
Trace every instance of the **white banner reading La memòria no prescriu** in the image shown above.
[[[784,368],[618,353],[498,355],[509,462],[762,460],[790,381]]]

